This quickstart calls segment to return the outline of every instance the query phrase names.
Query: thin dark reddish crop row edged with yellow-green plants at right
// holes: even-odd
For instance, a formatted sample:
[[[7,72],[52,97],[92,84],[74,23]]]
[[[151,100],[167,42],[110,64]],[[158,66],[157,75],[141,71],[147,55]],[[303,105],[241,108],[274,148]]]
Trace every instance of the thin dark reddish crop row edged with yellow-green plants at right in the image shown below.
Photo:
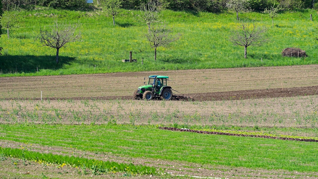
[[[193,130],[193,129],[179,129],[175,127],[159,127],[159,129],[170,130],[170,131],[195,132],[195,133],[202,133],[202,134],[218,134],[218,135],[230,135],[230,136],[242,136],[242,137],[259,137],[259,138],[279,139],[279,140],[318,142],[318,140],[316,139],[299,139],[294,137],[278,137],[278,136],[269,136],[269,135],[253,135],[253,134],[237,134],[237,133],[229,133],[229,132],[201,131],[201,130]]]

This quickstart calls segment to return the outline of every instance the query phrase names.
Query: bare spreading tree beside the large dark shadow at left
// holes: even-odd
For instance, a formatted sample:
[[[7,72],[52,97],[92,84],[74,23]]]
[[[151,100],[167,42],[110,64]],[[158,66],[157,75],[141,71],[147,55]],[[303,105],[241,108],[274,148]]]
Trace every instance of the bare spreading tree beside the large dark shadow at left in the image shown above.
[[[76,32],[79,25],[62,25],[55,22],[50,30],[40,28],[39,39],[44,46],[56,49],[56,63],[59,63],[59,49],[65,47],[68,42],[75,42],[81,38],[80,32]]]

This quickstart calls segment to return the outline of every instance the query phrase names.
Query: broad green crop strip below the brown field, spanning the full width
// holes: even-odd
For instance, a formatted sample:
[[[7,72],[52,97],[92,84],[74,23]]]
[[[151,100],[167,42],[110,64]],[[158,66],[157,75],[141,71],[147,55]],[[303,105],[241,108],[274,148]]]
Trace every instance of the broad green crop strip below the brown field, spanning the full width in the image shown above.
[[[0,125],[0,140],[246,168],[318,170],[318,143],[175,132],[136,125]]]

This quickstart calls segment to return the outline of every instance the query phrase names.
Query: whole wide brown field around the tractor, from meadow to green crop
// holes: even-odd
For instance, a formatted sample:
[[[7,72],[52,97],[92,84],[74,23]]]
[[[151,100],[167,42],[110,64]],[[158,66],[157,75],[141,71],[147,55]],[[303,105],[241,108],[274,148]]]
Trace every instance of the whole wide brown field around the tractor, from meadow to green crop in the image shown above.
[[[318,127],[317,68],[305,65],[0,78],[0,121]],[[135,89],[152,74],[168,75],[173,89],[194,100],[133,100]],[[39,100],[41,91],[43,101]],[[10,118],[17,110],[21,114]],[[32,118],[27,111],[45,118]]]

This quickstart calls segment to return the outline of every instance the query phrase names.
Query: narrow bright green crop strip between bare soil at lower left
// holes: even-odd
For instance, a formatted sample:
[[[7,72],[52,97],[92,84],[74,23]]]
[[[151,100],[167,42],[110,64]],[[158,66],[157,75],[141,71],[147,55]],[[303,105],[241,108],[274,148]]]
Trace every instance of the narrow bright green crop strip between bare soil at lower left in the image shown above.
[[[92,170],[93,174],[98,173],[116,173],[124,172],[131,175],[158,175],[158,170],[154,167],[147,167],[142,165],[117,163],[110,161],[100,161],[94,159],[86,159],[74,156],[43,154],[39,152],[31,152],[22,149],[12,149],[0,147],[0,155],[7,157],[15,157],[23,160],[41,161],[47,163],[54,163],[59,165],[71,165],[73,167],[83,167]]]

